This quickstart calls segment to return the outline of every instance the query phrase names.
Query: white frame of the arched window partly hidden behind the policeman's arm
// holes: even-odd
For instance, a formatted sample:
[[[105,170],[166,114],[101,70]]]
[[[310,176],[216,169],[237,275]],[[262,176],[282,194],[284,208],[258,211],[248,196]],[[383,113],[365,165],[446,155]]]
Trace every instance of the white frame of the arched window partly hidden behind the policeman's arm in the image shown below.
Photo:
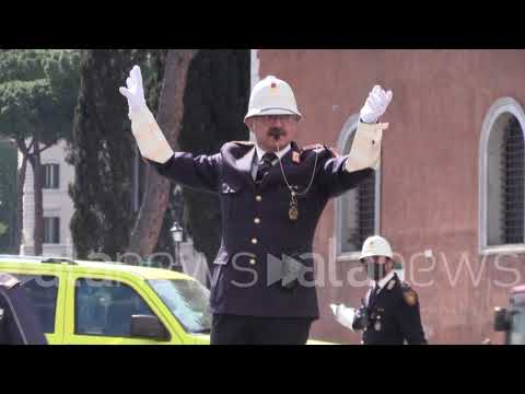
[[[342,126],[342,130],[339,134],[339,139],[337,141],[337,150],[345,152],[345,148],[348,144],[348,140],[352,137],[353,132],[358,129],[359,125],[359,114],[353,114],[350,116],[345,126]],[[355,252],[341,252],[341,239],[342,239],[342,201],[343,196],[336,198],[335,205],[335,256],[337,262],[355,262],[359,260],[359,256],[361,254],[360,251]],[[374,207],[374,233],[380,234],[381,232],[381,165],[380,169],[375,171],[375,207]]]

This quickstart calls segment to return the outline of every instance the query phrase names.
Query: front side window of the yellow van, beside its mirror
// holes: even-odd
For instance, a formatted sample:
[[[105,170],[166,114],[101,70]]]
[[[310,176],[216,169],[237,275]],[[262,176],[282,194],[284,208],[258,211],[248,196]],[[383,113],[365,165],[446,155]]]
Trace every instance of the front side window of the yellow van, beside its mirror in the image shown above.
[[[130,337],[133,314],[154,316],[144,300],[128,285],[115,280],[77,280],[75,334]]]

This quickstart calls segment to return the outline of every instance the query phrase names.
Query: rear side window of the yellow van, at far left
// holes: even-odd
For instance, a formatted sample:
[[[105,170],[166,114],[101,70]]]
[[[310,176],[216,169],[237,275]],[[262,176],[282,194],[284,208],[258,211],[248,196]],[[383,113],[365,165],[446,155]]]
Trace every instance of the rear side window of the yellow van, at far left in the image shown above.
[[[30,299],[36,306],[44,333],[55,333],[58,278],[51,275],[12,275],[20,280],[22,288],[27,291]]]

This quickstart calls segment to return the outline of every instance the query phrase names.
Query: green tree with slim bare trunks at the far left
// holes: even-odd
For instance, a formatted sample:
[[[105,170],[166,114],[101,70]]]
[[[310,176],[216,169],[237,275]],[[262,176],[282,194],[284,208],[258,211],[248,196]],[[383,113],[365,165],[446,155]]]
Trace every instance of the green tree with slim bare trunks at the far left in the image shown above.
[[[35,255],[44,239],[40,154],[70,139],[79,85],[77,50],[11,49],[0,53],[0,132],[13,139],[23,160],[18,174],[18,236],[22,233],[22,187],[28,162],[34,174]]]

